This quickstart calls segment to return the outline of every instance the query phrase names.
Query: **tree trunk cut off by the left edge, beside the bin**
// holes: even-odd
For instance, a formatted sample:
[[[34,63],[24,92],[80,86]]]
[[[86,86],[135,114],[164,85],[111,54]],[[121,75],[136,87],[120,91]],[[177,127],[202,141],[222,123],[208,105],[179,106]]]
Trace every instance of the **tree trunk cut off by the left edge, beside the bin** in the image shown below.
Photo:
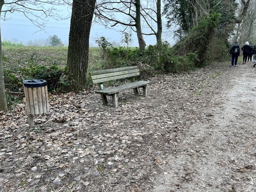
[[[0,13],[4,0],[0,0]],[[1,29],[1,28],[0,28]],[[0,30],[0,111],[7,109],[7,101],[4,89],[4,70],[3,70],[3,61],[2,61],[2,42],[1,42],[1,30]]]

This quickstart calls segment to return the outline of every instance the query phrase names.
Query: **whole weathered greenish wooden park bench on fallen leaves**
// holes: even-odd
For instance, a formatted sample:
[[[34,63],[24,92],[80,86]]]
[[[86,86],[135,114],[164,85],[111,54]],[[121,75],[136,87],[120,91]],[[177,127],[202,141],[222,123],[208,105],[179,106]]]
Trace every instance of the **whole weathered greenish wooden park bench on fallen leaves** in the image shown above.
[[[108,105],[107,95],[111,95],[113,98],[113,107],[118,107],[118,93],[124,90],[133,89],[135,95],[143,95],[147,97],[147,85],[150,81],[135,81],[135,77],[140,75],[139,68],[137,66],[133,67],[123,67],[123,68],[111,68],[107,70],[97,70],[90,72],[93,84],[99,85],[99,90],[95,93],[99,93],[102,98],[104,105]],[[104,88],[103,83],[108,81],[114,81],[118,79],[130,78],[130,83],[122,84],[120,86],[114,86],[110,88]],[[138,88],[143,88],[142,94],[139,94]]]

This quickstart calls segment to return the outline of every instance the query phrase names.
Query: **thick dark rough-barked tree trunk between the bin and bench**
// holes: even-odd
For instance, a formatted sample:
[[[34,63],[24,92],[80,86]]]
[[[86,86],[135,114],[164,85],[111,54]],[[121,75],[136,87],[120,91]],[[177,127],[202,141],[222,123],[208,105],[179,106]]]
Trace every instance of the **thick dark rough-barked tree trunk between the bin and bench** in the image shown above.
[[[68,74],[72,90],[86,88],[89,38],[96,0],[74,0],[68,40]]]

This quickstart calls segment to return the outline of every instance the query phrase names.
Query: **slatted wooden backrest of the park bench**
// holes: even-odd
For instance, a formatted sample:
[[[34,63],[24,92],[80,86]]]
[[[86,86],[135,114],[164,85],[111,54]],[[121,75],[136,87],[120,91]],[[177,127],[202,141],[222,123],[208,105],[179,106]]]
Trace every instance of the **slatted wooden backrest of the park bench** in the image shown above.
[[[124,79],[127,77],[139,76],[140,71],[137,66],[111,68],[106,70],[97,70],[90,72],[93,83],[103,83],[107,81],[113,81],[116,79]]]

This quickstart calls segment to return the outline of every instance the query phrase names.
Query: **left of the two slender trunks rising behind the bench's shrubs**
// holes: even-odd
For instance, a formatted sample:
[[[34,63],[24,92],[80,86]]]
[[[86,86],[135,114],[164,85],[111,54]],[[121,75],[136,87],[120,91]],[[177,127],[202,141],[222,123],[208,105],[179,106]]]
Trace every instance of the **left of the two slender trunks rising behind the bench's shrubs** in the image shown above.
[[[140,0],[136,0],[135,7],[136,7],[136,20],[135,20],[136,24],[135,24],[135,26],[136,26],[136,31],[137,31],[139,47],[141,50],[145,50],[146,43],[145,43],[145,40],[143,39],[142,29],[141,29]]]

